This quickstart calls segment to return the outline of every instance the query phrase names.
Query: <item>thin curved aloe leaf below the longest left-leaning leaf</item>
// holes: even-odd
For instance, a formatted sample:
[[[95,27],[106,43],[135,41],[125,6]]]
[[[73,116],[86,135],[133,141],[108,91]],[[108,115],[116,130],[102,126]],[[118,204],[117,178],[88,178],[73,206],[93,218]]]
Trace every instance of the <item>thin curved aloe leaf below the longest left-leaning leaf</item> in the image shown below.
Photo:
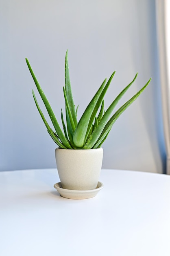
[[[46,121],[46,119],[45,119],[45,117],[44,117],[44,115],[43,115],[43,113],[42,113],[42,111],[41,111],[41,109],[40,109],[40,107],[39,107],[39,104],[38,104],[38,102],[37,102],[37,99],[36,99],[36,97],[35,97],[34,91],[33,91],[33,98],[34,98],[35,104],[36,104],[36,106],[37,106],[37,109],[38,109],[38,111],[39,111],[39,114],[41,115],[41,118],[43,119],[44,124],[45,124],[45,126],[46,126],[46,128],[47,128],[47,130],[48,130],[48,133],[50,134],[50,136],[52,137],[52,139],[54,140],[54,142],[55,142],[60,148],[65,148],[65,149],[66,149],[66,147],[61,143],[61,141],[59,141],[59,139],[57,138],[57,136],[54,134],[53,130],[50,128],[48,122]]]

